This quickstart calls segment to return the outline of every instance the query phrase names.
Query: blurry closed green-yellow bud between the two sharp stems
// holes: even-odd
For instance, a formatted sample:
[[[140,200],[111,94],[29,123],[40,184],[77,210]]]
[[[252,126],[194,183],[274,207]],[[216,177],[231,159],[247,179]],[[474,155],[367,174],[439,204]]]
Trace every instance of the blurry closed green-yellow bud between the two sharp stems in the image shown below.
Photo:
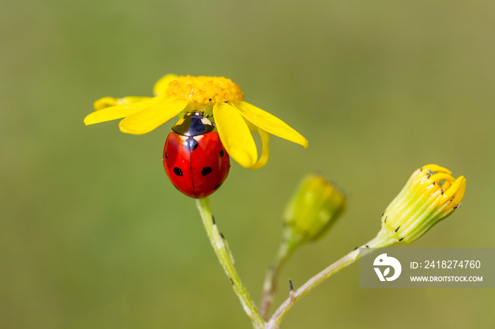
[[[344,213],[346,198],[325,178],[310,174],[284,212],[284,239],[296,246],[322,236]]]

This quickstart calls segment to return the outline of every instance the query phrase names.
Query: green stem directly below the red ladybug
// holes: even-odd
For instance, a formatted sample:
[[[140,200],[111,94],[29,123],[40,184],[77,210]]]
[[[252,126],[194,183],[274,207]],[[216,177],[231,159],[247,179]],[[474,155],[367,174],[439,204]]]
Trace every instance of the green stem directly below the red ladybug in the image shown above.
[[[235,294],[237,294],[237,297],[239,297],[240,304],[243,305],[243,309],[251,318],[253,325],[255,325],[256,328],[264,329],[266,323],[264,322],[260,311],[256,308],[254,301],[252,301],[249,296],[248,291],[245,289],[243,282],[240,281],[240,277],[234,268],[234,261],[231,251],[228,249],[227,241],[221,237],[219,229],[216,227],[213,215],[211,215],[209,199],[197,199],[196,205],[201,214],[203,225],[208,234],[211,246],[213,246],[223,270],[225,270],[226,275],[231,280],[232,287]]]

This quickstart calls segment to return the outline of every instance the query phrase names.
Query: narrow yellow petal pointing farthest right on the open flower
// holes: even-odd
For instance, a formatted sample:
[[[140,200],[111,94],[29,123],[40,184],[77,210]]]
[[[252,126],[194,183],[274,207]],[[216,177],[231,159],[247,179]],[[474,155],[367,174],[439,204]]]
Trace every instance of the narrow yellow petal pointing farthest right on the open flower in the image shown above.
[[[246,102],[235,102],[235,107],[245,119],[264,131],[303,145],[304,148],[308,147],[308,140],[276,116]]]

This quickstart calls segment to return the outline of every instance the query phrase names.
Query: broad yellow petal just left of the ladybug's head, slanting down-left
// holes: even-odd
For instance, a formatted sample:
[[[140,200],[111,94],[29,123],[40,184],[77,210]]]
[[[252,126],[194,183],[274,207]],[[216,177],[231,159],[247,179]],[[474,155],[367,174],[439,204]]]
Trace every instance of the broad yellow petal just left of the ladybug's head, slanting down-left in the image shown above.
[[[165,121],[172,119],[187,106],[187,100],[181,100],[178,97],[163,98],[158,96],[155,98],[163,101],[132,116],[127,116],[127,118],[120,121],[120,131],[122,133],[132,133],[133,135],[149,133],[158,126],[165,124]]]

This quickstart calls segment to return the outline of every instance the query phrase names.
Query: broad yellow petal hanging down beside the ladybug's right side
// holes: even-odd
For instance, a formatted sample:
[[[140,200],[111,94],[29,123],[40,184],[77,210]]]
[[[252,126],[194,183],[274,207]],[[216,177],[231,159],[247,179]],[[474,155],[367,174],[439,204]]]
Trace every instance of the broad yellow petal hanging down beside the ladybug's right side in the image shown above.
[[[255,140],[252,139],[243,116],[230,104],[225,103],[215,104],[213,116],[220,139],[228,154],[241,166],[252,167],[258,155]]]

